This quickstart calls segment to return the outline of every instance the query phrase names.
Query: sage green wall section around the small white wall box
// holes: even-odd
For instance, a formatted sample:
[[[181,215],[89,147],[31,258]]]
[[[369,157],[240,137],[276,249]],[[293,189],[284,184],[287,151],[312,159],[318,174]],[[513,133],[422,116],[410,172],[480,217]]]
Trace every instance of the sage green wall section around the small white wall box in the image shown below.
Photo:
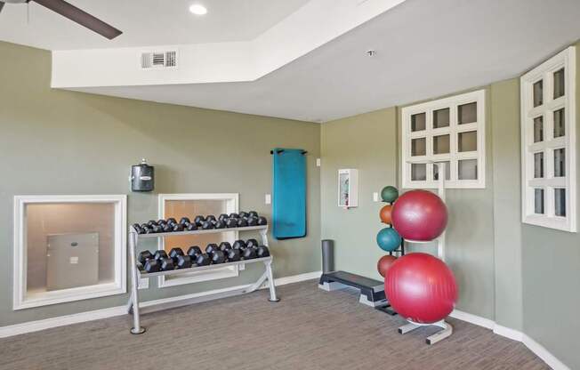
[[[334,239],[335,267],[367,277],[380,277],[376,246],[382,228],[373,192],[397,182],[397,111],[383,109],[322,125],[320,177],[323,238]],[[338,206],[338,169],[358,169],[358,207]]]

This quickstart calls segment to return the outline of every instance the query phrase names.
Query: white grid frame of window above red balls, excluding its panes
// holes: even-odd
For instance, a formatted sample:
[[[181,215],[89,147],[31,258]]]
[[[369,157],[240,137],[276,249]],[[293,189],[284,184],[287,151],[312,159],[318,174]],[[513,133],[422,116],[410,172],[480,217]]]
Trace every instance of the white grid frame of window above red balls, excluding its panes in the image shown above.
[[[458,125],[457,109],[463,104],[477,103],[477,122]],[[449,126],[432,128],[433,112],[439,109],[449,109]],[[425,130],[411,132],[411,117],[415,114],[425,113]],[[402,114],[402,155],[401,174],[403,188],[405,189],[436,189],[438,181],[433,180],[433,162],[449,162],[450,179],[445,181],[445,187],[449,189],[485,189],[486,187],[486,91],[479,90],[472,93],[463,93],[452,97],[427,101],[421,104],[405,107]],[[477,131],[478,149],[470,152],[457,150],[457,137],[459,133]],[[449,153],[433,154],[433,137],[449,135]],[[411,140],[426,138],[425,156],[411,156]],[[462,159],[477,159],[478,179],[459,180],[458,161]],[[425,181],[411,180],[411,164],[426,164],[427,177]],[[445,175],[442,173],[441,175]]]

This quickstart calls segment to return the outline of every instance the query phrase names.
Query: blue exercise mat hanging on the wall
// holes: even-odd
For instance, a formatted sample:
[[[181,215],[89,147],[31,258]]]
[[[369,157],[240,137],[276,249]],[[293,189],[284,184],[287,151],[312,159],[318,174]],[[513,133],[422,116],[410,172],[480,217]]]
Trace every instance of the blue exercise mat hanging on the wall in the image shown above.
[[[276,148],[272,155],[272,234],[306,236],[306,150]]]

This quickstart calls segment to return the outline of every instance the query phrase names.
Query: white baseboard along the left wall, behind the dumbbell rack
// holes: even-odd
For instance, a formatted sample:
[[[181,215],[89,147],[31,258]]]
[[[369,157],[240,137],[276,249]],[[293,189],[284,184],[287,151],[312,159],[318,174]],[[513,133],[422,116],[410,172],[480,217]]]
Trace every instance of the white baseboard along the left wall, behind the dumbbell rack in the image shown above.
[[[314,271],[290,277],[278,277],[274,279],[274,284],[276,286],[284,286],[286,284],[298,283],[305,280],[315,279],[320,277],[321,274],[322,274],[321,271]],[[248,286],[230,286],[227,288],[215,289],[212,291],[201,292],[196,294],[187,294],[180,295],[177,297],[159,299],[155,301],[147,301],[143,302],[141,304],[141,307],[149,307],[157,303],[178,302],[184,299],[202,298],[203,300],[203,297],[207,295],[227,293]],[[59,316],[57,318],[44,318],[42,320],[28,321],[27,323],[15,324],[11,326],[0,326],[0,338],[6,338],[18,334],[38,332],[40,330],[50,329],[52,327],[84,323],[87,321],[99,320],[101,318],[112,318],[115,316],[126,315],[126,313],[127,313],[126,306],[117,306],[111,307],[109,309],[92,310],[72,315]]]

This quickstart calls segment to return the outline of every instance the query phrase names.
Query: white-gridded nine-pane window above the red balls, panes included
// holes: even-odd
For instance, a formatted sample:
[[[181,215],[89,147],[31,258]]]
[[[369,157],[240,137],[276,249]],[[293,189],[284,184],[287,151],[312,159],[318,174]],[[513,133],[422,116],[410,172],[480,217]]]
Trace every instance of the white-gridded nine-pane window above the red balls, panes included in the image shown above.
[[[403,188],[437,188],[445,162],[446,188],[483,189],[485,90],[402,109]]]

